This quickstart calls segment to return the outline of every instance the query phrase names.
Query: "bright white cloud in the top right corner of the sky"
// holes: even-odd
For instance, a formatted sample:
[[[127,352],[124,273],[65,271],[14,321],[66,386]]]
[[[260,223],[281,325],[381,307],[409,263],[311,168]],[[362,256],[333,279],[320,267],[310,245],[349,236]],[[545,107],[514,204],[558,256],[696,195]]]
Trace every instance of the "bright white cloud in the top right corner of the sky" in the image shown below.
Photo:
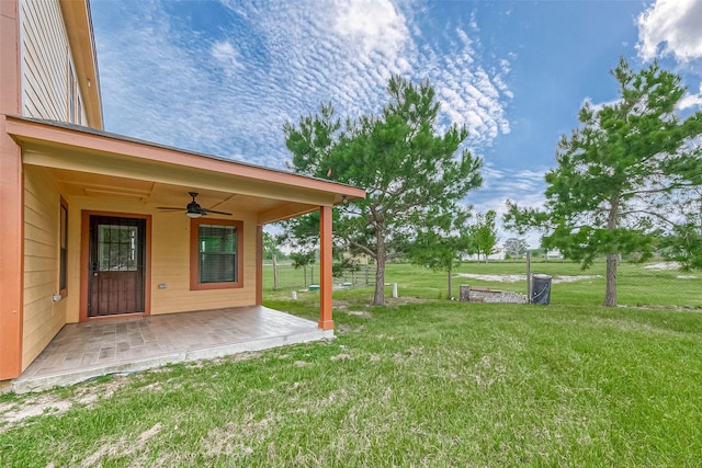
[[[638,16],[638,53],[644,59],[702,57],[702,0],[657,0]]]

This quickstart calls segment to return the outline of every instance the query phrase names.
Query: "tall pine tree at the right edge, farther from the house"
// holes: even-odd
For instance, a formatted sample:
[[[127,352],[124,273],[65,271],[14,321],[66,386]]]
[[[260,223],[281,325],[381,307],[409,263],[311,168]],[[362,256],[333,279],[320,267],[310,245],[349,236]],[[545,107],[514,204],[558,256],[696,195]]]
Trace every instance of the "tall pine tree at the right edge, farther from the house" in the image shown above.
[[[508,227],[544,228],[546,248],[589,266],[607,256],[604,305],[616,305],[621,255],[646,260],[658,240],[684,227],[673,206],[699,186],[702,113],[684,119],[676,106],[686,89],[680,77],[654,62],[638,72],[622,58],[612,70],[620,99],[580,110],[580,128],[563,136],[557,167],[546,174],[544,210],[509,203]],[[695,149],[698,148],[698,149]],[[684,229],[683,229],[684,230]]]

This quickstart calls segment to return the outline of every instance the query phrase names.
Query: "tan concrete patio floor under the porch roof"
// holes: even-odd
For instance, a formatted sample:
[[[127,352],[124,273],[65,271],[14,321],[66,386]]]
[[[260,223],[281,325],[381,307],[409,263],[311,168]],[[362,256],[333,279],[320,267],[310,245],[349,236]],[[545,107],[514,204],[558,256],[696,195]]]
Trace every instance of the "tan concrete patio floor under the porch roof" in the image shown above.
[[[333,330],[321,330],[312,320],[261,306],[69,323],[12,381],[12,390],[38,391],[331,336]]]

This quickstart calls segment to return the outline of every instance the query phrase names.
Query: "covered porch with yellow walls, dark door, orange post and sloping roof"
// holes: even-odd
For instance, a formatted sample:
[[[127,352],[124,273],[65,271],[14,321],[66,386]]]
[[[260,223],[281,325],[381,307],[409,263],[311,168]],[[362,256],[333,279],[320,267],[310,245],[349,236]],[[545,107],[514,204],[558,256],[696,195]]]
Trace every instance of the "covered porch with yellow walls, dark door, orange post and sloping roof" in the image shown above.
[[[239,326],[233,324],[229,338],[293,340],[298,332],[290,330],[288,320],[261,307],[263,226],[313,212],[320,218],[320,300],[312,330],[318,330],[314,336],[331,333],[332,207],[362,198],[364,191],[71,124],[4,118],[22,167],[11,181],[16,196],[5,203],[0,220],[8,238],[16,239],[0,259],[0,381],[35,376],[37,368],[50,370],[58,362],[113,365],[144,353],[150,359],[149,350],[157,364],[170,362],[160,354],[173,350],[152,343],[132,353],[134,323],[150,328],[161,323],[157,316],[174,327],[161,336],[163,343],[177,342],[176,354],[207,357],[192,353],[217,347],[222,333],[217,340],[214,332],[193,333],[189,317],[169,317],[177,312],[248,309],[256,316],[247,327],[254,328],[235,331]],[[124,323],[103,326],[104,319]],[[126,338],[101,344],[97,355],[71,349],[64,353],[57,343],[71,330],[110,335],[117,328]],[[263,331],[274,334],[261,338]],[[93,336],[93,347],[97,342]],[[236,351],[223,354],[230,352]],[[115,369],[100,374],[131,367]]]

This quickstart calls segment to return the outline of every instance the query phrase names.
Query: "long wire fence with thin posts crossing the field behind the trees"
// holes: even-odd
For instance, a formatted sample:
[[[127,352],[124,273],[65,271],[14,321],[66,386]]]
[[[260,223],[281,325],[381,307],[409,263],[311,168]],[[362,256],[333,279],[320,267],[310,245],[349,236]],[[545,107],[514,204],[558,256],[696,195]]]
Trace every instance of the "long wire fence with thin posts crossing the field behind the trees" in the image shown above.
[[[338,266],[333,266],[335,287],[375,285],[373,264],[356,265],[350,270]],[[540,275],[547,276],[547,281]],[[445,272],[432,272],[409,263],[386,265],[385,282],[399,283],[400,295],[403,290],[421,295],[422,289],[432,289],[433,297],[437,297],[437,289],[444,290],[441,297],[448,295]],[[454,290],[451,295],[458,297],[456,293],[460,286],[468,285],[475,290],[488,288],[522,296],[513,301],[526,299],[543,304],[551,300],[550,296],[553,295],[561,303],[599,305],[604,300],[605,282],[604,258],[596,259],[585,270],[579,263],[543,255],[532,258],[529,263],[525,259],[490,260],[488,263],[471,261],[461,263],[454,270]],[[319,287],[319,264],[296,269],[291,262],[278,262],[275,265],[271,261],[264,262],[263,284],[268,292],[315,290]],[[536,290],[533,289],[534,286],[537,287]],[[548,296],[544,290],[546,286]],[[663,258],[643,264],[621,259],[616,267],[616,294],[618,304],[623,306],[702,308],[702,272],[684,271],[680,264]]]

